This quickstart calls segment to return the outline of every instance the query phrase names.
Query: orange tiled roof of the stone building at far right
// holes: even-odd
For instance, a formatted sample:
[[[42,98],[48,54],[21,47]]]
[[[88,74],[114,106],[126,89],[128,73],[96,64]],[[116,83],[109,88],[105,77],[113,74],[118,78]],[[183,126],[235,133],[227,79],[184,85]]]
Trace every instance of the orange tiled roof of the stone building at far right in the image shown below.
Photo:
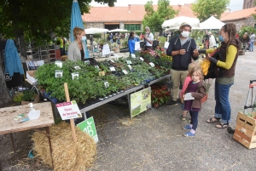
[[[221,21],[229,21],[229,20],[241,20],[241,19],[247,19],[252,14],[256,14],[256,8],[251,9],[242,9],[239,11],[231,12],[230,14],[222,15],[220,18]]]

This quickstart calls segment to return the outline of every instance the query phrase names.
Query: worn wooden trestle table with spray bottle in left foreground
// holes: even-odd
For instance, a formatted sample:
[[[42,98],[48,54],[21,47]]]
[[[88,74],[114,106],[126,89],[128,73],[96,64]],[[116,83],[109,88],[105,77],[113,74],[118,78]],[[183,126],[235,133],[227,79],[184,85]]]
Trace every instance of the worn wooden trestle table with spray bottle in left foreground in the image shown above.
[[[37,120],[29,120],[24,123],[16,123],[14,120],[20,114],[27,114],[30,111],[29,105],[18,105],[12,107],[6,107],[0,109],[0,134],[10,134],[12,140],[12,145],[15,151],[15,142],[13,139],[13,134],[16,132],[26,131],[26,130],[35,130],[38,131],[49,139],[49,151],[52,153],[50,136],[49,136],[49,127],[55,124],[53,111],[50,102],[33,104],[35,110],[40,110],[40,117]],[[38,130],[38,128],[45,128],[46,133]]]

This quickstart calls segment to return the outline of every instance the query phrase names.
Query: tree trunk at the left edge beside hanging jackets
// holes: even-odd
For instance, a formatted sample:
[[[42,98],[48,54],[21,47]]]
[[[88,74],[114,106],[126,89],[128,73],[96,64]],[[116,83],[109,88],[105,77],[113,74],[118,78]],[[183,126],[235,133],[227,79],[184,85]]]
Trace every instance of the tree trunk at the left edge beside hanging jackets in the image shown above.
[[[1,54],[0,54],[1,55]],[[5,76],[3,72],[3,58],[0,59],[0,108],[13,102],[9,96],[9,89],[6,87]]]

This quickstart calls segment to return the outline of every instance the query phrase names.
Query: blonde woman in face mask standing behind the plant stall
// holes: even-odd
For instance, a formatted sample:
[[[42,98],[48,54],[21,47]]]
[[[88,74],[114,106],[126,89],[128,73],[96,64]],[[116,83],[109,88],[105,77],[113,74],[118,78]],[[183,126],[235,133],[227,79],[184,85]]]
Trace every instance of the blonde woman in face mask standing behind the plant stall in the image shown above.
[[[77,61],[89,58],[84,29],[75,27],[73,37],[74,41],[68,46],[68,60]]]

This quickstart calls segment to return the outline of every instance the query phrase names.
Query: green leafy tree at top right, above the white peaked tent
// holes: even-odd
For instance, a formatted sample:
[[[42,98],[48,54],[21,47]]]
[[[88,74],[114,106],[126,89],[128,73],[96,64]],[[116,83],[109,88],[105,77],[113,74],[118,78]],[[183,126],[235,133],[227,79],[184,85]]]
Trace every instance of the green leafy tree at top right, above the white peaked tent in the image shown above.
[[[197,0],[192,3],[192,11],[195,16],[202,22],[212,15],[220,19],[221,14],[227,9],[230,0]]]

